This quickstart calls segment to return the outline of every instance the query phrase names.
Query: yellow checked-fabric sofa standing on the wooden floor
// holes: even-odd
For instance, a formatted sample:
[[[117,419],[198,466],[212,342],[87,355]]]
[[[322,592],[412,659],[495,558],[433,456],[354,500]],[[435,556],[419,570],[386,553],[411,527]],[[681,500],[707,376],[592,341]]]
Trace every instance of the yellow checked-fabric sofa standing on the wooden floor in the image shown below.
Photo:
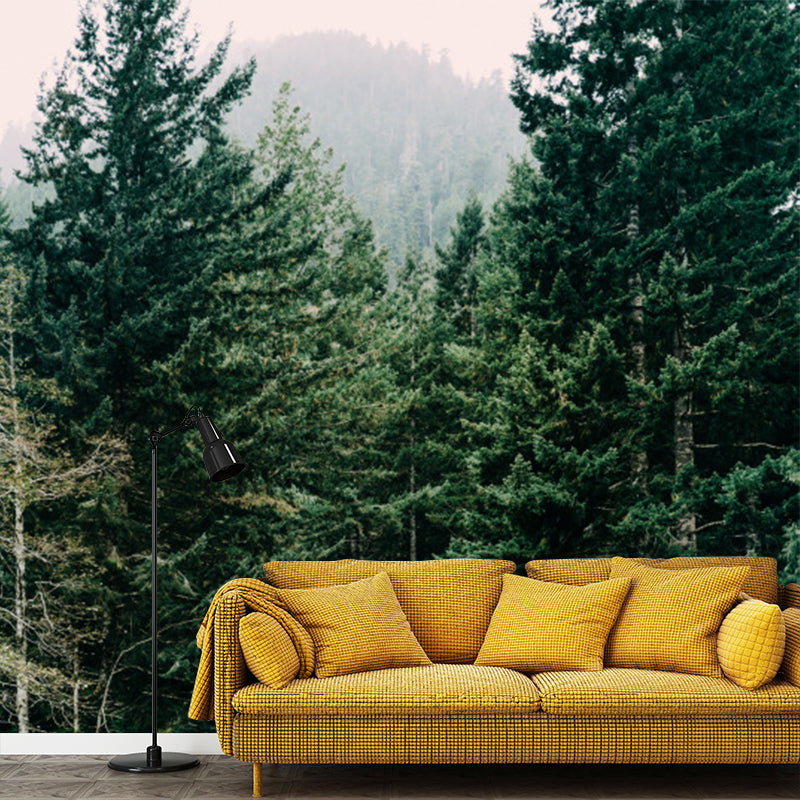
[[[263,763],[800,763],[800,610],[781,614],[775,607],[800,609],[800,586],[778,584],[774,559],[536,560],[525,565],[527,577],[512,576],[515,568],[509,561],[478,559],[270,562],[266,582],[238,579],[217,592],[198,632],[201,656],[189,716],[215,720],[223,752],[253,764],[254,797],[261,796]],[[675,616],[669,606],[682,591],[674,588],[675,581],[684,580],[690,570],[699,570],[688,575],[690,586],[706,574],[743,577],[743,593],[737,588],[735,599],[728,597],[718,609],[727,626],[723,631],[734,630],[749,609],[771,612],[773,622],[777,618],[784,633],[781,671],[774,678],[758,688],[743,688],[728,677],[734,673],[727,666],[720,671],[716,660],[710,671],[697,670],[705,674],[680,671],[680,665],[652,668],[663,667],[660,659],[672,655],[669,627],[661,631],[667,638],[660,645],[656,633],[641,636],[642,652],[652,651],[644,668],[630,647],[626,655],[622,614],[634,608],[632,587],[639,587],[636,597],[644,598],[644,605],[635,606],[639,616],[625,617],[634,625],[633,635],[639,635],[635,625],[645,620],[646,603],[652,606],[654,597],[663,609],[656,607],[656,617],[647,624],[658,627],[673,614],[669,624],[680,625],[684,613]],[[330,587],[339,587],[334,592],[355,587],[355,582],[372,587],[383,573],[411,638],[424,650],[424,665],[318,677],[322,640],[298,622],[301,606],[309,598],[328,597]],[[645,580],[653,577],[659,584],[655,594]],[[590,629],[580,626],[586,609],[599,601],[591,599],[595,595],[582,600],[584,590],[573,587],[596,592],[608,586],[611,591],[621,581],[631,588],[622,610],[614,612],[608,638],[608,631],[600,634],[600,663],[552,668],[558,666],[558,653],[571,646],[567,639],[580,648],[590,638],[584,635]],[[499,619],[499,600],[502,595],[505,612],[513,605],[512,588],[526,592],[534,587],[540,611],[521,618],[533,627],[517,635],[513,617]],[[309,589],[329,593],[315,595]],[[687,620],[704,599],[698,599],[696,589],[689,591]],[[519,601],[514,602],[519,609]],[[364,616],[372,624],[367,619],[371,605],[364,601],[358,606],[363,614],[352,615],[356,622]],[[740,608],[737,619],[729,615],[734,607]],[[578,616],[569,617],[575,608]],[[567,627],[539,636],[540,624]],[[373,638],[374,652],[386,656],[393,630],[387,623],[386,635]],[[726,638],[734,655],[741,650],[741,630],[735,628],[735,635]],[[674,632],[676,649],[682,636],[683,631]],[[721,647],[722,634],[714,630],[713,636]],[[490,638],[501,645],[494,653],[484,647]],[[498,658],[499,663],[508,658],[501,651],[508,651],[509,641],[512,650],[532,647],[533,663],[550,667],[526,672],[497,666]],[[760,657],[764,647],[757,642],[750,656]],[[259,654],[269,662],[266,675]],[[728,666],[738,669],[737,664]]]

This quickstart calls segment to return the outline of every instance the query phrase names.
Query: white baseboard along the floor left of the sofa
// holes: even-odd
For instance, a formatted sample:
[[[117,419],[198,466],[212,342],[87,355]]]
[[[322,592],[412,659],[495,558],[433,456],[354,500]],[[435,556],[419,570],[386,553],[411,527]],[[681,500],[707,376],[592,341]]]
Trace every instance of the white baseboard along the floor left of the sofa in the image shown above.
[[[152,733],[0,733],[0,755],[125,755],[144,753]],[[220,755],[216,733],[159,733],[165,752]]]

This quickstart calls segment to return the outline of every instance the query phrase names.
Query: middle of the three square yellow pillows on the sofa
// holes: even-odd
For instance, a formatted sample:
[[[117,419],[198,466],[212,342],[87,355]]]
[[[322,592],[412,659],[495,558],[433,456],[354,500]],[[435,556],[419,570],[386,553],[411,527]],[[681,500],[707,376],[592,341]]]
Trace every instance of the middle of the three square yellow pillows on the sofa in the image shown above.
[[[503,576],[475,663],[519,672],[603,669],[603,649],[630,578],[567,586]]]

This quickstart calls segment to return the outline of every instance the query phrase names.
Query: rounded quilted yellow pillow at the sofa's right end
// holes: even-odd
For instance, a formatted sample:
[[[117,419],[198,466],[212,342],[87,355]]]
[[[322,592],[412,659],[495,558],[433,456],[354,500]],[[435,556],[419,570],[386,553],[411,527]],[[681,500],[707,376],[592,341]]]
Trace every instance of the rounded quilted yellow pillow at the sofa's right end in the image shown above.
[[[778,674],[785,643],[780,608],[748,597],[722,620],[717,656],[722,671],[734,683],[758,689]]]

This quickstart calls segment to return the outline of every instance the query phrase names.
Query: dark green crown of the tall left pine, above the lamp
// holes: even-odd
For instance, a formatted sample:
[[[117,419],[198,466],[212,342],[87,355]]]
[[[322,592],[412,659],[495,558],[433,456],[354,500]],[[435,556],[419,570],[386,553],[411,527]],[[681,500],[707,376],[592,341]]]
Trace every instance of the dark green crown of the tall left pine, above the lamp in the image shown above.
[[[74,51],[39,99],[22,178],[54,196],[16,238],[48,367],[79,406],[107,397],[127,427],[139,398],[154,399],[150,364],[185,337],[219,268],[220,229],[242,214],[235,187],[252,164],[221,126],[255,65],[212,91],[229,39],[196,67],[178,0],[109,1],[104,13],[101,25],[81,12]]]

